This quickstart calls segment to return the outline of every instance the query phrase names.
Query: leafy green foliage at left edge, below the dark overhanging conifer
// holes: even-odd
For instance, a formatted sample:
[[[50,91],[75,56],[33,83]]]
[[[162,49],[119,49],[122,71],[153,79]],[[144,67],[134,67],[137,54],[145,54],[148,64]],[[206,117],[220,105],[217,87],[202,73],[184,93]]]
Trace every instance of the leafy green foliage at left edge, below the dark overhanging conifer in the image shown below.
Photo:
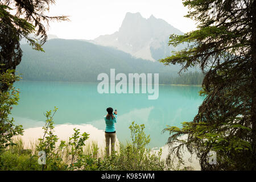
[[[13,137],[23,133],[22,126],[15,126],[14,119],[9,118],[13,105],[18,104],[19,91],[13,87],[13,82],[19,80],[13,70],[7,70],[0,74],[0,154],[7,150],[7,147],[13,146]]]

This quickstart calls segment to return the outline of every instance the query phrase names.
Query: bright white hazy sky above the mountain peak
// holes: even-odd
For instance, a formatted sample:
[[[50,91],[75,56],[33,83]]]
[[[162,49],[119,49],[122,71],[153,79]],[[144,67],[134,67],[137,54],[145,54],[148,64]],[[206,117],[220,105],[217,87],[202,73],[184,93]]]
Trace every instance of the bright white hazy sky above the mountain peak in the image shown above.
[[[196,29],[193,20],[184,18],[188,9],[181,0],[56,0],[51,15],[68,15],[70,22],[52,22],[49,34],[64,39],[95,39],[118,31],[127,12],[154,15],[183,32]]]

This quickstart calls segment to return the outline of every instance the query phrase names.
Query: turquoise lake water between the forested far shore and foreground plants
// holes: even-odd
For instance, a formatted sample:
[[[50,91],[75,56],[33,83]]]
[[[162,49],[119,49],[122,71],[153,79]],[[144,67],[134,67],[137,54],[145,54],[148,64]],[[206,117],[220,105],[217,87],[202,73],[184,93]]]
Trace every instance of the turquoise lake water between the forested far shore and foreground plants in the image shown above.
[[[148,100],[147,94],[100,94],[97,83],[19,81],[19,105],[14,106],[16,124],[24,129],[43,126],[46,110],[59,110],[55,114],[57,125],[90,124],[104,130],[106,108],[118,111],[117,138],[130,139],[129,126],[135,121],[145,125],[150,135],[150,147],[162,147],[168,133],[162,134],[167,125],[181,127],[181,122],[192,121],[204,97],[199,96],[199,86],[159,85],[157,100]]]

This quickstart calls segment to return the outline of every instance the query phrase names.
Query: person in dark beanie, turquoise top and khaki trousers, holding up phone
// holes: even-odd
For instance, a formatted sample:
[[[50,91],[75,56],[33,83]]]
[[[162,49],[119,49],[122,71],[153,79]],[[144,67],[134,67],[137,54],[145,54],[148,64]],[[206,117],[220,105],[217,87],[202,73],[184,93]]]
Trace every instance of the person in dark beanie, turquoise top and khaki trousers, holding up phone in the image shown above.
[[[105,140],[106,140],[106,155],[109,156],[109,144],[111,140],[111,154],[115,151],[115,123],[117,123],[117,110],[113,113],[113,108],[106,109],[108,114],[104,117],[106,123]]]

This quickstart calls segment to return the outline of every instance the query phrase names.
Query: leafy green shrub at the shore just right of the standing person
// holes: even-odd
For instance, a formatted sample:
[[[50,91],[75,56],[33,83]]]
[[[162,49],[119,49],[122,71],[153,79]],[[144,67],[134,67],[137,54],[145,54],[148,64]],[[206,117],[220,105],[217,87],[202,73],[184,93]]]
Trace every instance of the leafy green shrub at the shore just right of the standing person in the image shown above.
[[[102,170],[164,170],[168,169],[166,163],[160,159],[162,150],[155,154],[146,148],[150,142],[149,135],[144,133],[144,125],[134,125],[131,130],[131,143],[120,144],[119,152],[106,157],[100,169]]]

